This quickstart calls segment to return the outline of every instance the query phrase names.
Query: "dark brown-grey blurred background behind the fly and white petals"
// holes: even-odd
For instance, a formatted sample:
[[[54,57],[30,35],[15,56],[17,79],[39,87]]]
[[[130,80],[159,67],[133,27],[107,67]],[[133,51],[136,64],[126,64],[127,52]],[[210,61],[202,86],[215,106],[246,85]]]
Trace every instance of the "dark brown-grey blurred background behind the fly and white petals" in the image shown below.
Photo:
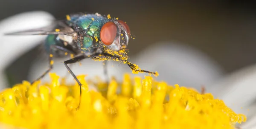
[[[205,53],[228,74],[256,63],[255,7],[253,0],[1,0],[0,20],[38,10],[56,19],[75,12],[111,14],[136,36],[128,45],[130,56],[157,42],[181,43]],[[6,67],[10,85],[27,78],[36,52]]]

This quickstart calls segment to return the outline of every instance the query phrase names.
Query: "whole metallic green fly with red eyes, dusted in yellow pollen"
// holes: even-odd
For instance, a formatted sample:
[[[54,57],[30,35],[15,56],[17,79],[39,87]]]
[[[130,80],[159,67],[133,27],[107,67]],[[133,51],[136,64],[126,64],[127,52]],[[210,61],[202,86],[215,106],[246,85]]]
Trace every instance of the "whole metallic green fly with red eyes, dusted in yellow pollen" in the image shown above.
[[[51,28],[52,26],[54,27]],[[65,20],[54,22],[51,27],[6,34],[48,35],[44,42],[44,47],[49,53],[49,69],[35,81],[42,79],[52,70],[53,57],[65,56],[67,53],[72,54],[74,57],[63,63],[79,84],[80,97],[82,84],[67,64],[76,63],[82,59],[90,58],[95,61],[103,61],[105,64],[108,60],[122,62],[131,68],[132,73],[149,73],[158,76],[157,72],[141,70],[136,64],[128,62],[125,48],[129,39],[131,39],[131,31],[126,22],[118,20],[118,18],[111,18],[109,14],[76,13],[67,15]],[[47,28],[51,29],[48,31]],[[79,106],[80,101],[81,99],[79,100]]]

